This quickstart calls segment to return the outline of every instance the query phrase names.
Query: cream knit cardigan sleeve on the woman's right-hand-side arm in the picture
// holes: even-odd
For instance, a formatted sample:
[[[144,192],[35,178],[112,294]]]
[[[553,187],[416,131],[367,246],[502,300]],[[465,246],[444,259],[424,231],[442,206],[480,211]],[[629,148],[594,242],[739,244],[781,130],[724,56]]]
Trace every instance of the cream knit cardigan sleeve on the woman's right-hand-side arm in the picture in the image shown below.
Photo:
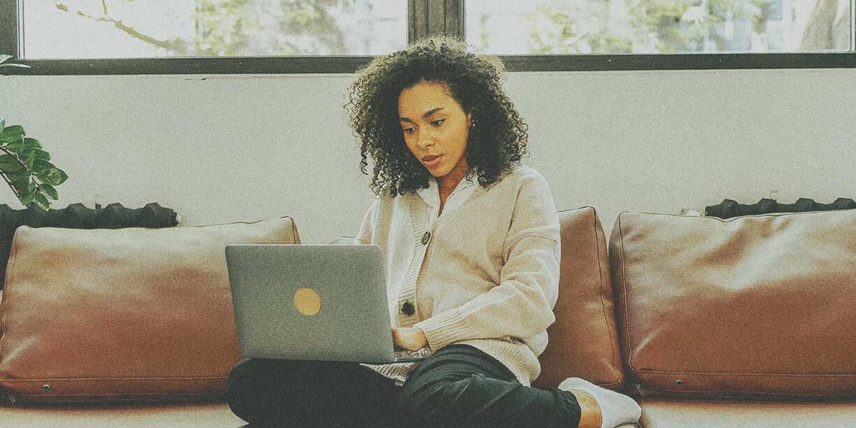
[[[556,320],[561,252],[559,219],[544,177],[522,182],[502,246],[500,282],[461,306],[415,326],[437,351],[453,342],[511,336],[526,338]]]

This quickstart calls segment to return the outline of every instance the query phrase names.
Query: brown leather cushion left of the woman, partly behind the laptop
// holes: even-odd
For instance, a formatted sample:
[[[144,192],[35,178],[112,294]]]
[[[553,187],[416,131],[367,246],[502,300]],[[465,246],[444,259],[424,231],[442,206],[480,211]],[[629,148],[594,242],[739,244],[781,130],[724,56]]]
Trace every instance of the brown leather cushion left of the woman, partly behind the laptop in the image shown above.
[[[15,233],[0,385],[18,401],[222,395],[237,348],[225,245],[300,243],[290,217]]]

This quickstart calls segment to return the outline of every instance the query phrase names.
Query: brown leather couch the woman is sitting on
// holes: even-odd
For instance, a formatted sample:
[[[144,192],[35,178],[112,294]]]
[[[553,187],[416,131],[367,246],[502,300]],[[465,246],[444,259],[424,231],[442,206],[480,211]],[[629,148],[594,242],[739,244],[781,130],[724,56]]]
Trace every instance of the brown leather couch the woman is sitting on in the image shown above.
[[[559,217],[560,295],[554,311],[556,322],[548,330],[550,344],[540,356],[542,373],[534,386],[555,386],[565,377],[574,376],[620,390],[639,402],[639,426],[644,428],[856,427],[856,210],[728,220],[622,212],[609,242],[591,206],[560,211]],[[17,255],[10,258],[7,270],[3,294],[9,295],[3,295],[0,304],[0,385],[15,389],[20,384],[21,389],[15,403],[0,405],[0,426],[244,426],[229,411],[222,396],[229,362],[239,357],[235,354],[234,325],[229,319],[229,295],[224,291],[228,288],[224,283],[228,282],[224,259],[218,248],[224,242],[241,240],[300,243],[293,220],[283,217],[277,224],[274,232],[241,232],[240,239],[229,234],[213,234],[217,236],[211,238],[206,227],[161,229],[158,233],[164,235],[154,238],[149,233],[152,231],[128,232],[130,235],[113,231],[98,239],[84,232],[78,235],[62,229],[21,228],[13,246],[17,246]],[[184,241],[170,241],[173,238],[169,234],[178,233],[184,234]],[[274,235],[276,239],[271,238]],[[140,240],[152,240],[152,245],[161,242],[161,249],[155,253],[169,253],[169,248],[175,246],[211,248],[203,252],[205,257],[174,253],[156,263],[140,259],[153,257],[140,256],[152,253],[150,249],[135,249],[133,243]],[[351,240],[343,237],[334,242]],[[45,241],[54,242],[53,247]],[[45,254],[56,254],[57,246],[62,253],[88,250],[42,273],[21,272],[20,266],[13,268],[13,263],[23,265],[27,257],[45,259]],[[28,247],[34,249],[27,252]],[[62,374],[80,359],[68,357],[70,360],[53,366],[45,362],[53,362],[45,355],[56,355],[56,348],[38,349],[39,340],[47,335],[44,331],[50,330],[43,325],[51,322],[45,321],[39,312],[44,309],[39,308],[48,307],[51,313],[69,309],[57,306],[59,298],[39,300],[38,307],[21,309],[24,302],[41,297],[18,290],[26,290],[27,284],[36,290],[43,284],[65,289],[69,272],[80,275],[81,264],[99,257],[109,260],[98,264],[111,269],[104,271],[122,270],[125,276],[101,283],[101,274],[84,275],[79,287],[102,293],[93,295],[115,293],[112,290],[116,289],[116,281],[134,282],[138,276],[147,278],[134,283],[142,290],[140,293],[173,293],[169,291],[173,288],[163,285],[167,280],[158,279],[158,275],[172,278],[175,272],[184,275],[184,284],[216,284],[205,288],[205,295],[211,294],[211,289],[218,290],[218,297],[208,303],[217,306],[217,310],[206,312],[204,317],[213,323],[199,323],[199,318],[181,319],[177,322],[199,323],[202,330],[158,333],[167,335],[157,345],[164,348],[169,348],[171,339],[177,337],[179,342],[214,341],[225,349],[226,356],[219,360],[205,360],[203,355],[208,365],[204,370],[187,367],[179,377],[169,372],[175,378],[193,378],[194,382],[204,379],[204,383],[175,383],[161,375],[146,377],[155,381],[139,383],[143,382],[141,377],[126,373],[126,366],[133,364],[108,369],[101,366],[109,366],[110,361],[102,359],[92,363],[92,369],[78,369],[85,373],[86,382],[68,381],[71,392],[64,399],[62,395],[51,396],[56,389],[44,389],[45,377],[52,376],[51,382],[62,385],[65,378],[57,373]],[[193,272],[187,273],[191,271],[187,265],[195,265]],[[149,270],[145,266],[150,266]],[[27,280],[27,275],[32,277]],[[182,293],[198,292],[185,288],[181,287]],[[27,297],[31,295],[35,297]],[[163,304],[163,300],[152,301]],[[146,304],[134,302],[135,306]],[[95,309],[87,311],[98,311],[98,306],[92,307]],[[133,309],[134,306],[127,308]],[[209,308],[188,309],[203,310]],[[146,310],[139,313],[143,318],[135,320],[134,325],[146,322]],[[125,319],[121,313],[96,316],[114,316],[116,324]],[[74,317],[67,313],[65,318]],[[69,333],[78,330],[74,319],[69,322],[72,324],[52,327],[52,337],[58,337],[56,329]],[[162,316],[158,322],[170,321],[163,321]],[[146,335],[155,334],[153,330],[128,329],[131,333],[124,336],[133,337],[119,335],[122,338],[115,339],[120,342],[113,348],[145,342]],[[74,349],[79,340],[71,340],[62,349],[86,354],[88,349]],[[133,360],[134,364],[152,361],[152,366],[157,366],[154,360],[158,359],[163,366],[161,360],[172,355],[152,351],[151,344],[138,348],[132,355],[117,354],[116,359]],[[153,354],[146,354],[149,352]],[[10,353],[38,358],[15,360],[9,358]],[[175,349],[170,353],[174,354]],[[96,361],[98,355],[88,355],[84,362]],[[178,361],[185,360],[187,357]],[[98,373],[110,370],[110,378],[121,378],[122,382],[99,383],[102,377]],[[137,370],[145,371],[146,367]],[[171,369],[167,365],[163,370]],[[30,379],[32,385],[27,383]]]

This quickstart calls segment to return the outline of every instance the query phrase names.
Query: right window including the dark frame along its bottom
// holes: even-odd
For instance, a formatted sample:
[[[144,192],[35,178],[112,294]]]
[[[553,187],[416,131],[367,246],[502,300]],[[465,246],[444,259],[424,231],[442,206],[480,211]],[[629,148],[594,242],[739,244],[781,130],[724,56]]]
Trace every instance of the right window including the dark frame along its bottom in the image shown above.
[[[467,0],[512,70],[853,68],[854,0]]]

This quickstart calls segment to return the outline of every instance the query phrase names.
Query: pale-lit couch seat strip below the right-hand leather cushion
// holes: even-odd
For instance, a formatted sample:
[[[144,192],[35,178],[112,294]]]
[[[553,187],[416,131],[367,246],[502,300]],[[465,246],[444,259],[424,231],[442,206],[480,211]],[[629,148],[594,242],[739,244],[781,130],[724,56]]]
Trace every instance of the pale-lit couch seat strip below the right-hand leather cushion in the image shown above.
[[[645,398],[643,428],[853,428],[856,401]]]

